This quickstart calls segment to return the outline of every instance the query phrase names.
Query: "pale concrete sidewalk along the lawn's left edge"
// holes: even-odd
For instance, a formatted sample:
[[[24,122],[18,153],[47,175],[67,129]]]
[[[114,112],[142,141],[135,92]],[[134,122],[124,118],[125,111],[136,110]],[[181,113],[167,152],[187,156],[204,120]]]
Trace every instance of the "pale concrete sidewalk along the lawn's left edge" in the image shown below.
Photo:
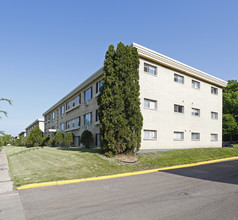
[[[8,173],[8,161],[5,147],[0,152],[0,219],[25,220],[26,216],[18,191],[13,190],[13,184]]]

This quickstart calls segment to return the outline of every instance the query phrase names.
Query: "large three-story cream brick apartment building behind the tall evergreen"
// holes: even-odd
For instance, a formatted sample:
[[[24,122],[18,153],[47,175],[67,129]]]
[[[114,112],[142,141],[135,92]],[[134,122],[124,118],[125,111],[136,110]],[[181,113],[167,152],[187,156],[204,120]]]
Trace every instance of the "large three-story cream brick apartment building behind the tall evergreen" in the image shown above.
[[[227,82],[133,43],[140,58],[140,100],[143,115],[141,149],[220,147],[222,88]],[[80,145],[85,129],[100,145],[97,95],[103,68],[43,115],[45,135],[72,131]]]

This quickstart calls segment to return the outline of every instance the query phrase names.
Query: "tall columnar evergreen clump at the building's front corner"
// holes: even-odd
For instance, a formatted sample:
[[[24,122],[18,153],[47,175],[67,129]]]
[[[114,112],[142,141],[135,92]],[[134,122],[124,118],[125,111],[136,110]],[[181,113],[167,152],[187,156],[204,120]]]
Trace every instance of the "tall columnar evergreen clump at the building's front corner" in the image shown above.
[[[110,45],[104,61],[103,89],[98,96],[100,141],[105,154],[133,153],[140,148],[139,57],[136,48]]]

